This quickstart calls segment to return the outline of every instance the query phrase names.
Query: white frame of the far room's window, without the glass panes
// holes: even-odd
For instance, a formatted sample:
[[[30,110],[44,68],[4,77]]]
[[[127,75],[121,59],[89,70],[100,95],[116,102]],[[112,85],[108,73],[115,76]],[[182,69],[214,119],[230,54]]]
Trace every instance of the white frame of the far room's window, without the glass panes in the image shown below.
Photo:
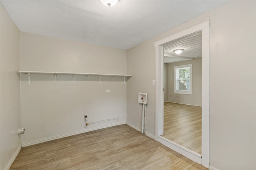
[[[177,72],[178,68],[190,67],[190,88],[189,90],[178,90],[178,76]],[[192,94],[192,64],[182,65],[182,66],[174,66],[174,93],[175,94]]]

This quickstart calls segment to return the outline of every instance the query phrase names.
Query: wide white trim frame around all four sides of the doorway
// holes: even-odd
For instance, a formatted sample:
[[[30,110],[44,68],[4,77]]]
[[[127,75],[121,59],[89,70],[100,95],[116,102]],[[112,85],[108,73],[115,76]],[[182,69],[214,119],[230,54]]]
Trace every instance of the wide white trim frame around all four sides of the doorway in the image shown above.
[[[164,94],[163,94],[163,47],[170,41],[202,31],[202,155],[177,145],[160,135],[164,131]],[[156,141],[187,158],[209,168],[210,159],[210,27],[209,21],[155,42],[156,52]]]

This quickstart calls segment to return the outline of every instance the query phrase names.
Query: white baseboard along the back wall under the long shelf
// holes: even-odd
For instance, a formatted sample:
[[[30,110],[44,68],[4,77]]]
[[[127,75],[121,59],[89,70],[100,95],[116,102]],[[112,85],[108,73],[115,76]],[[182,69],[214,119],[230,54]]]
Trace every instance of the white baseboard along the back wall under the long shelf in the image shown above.
[[[83,131],[76,131],[76,132],[67,133],[67,134],[64,134],[64,135],[58,135],[58,136],[55,136],[55,137],[50,137],[50,138],[45,138],[45,139],[40,139],[40,140],[37,140],[37,141],[28,142],[28,143],[22,143],[21,146],[22,147],[27,147],[27,146],[30,146],[30,145],[35,145],[35,144],[38,144],[38,143],[52,141],[52,140],[60,139],[60,138],[63,138],[63,137],[69,137],[69,136],[78,135],[78,134],[81,134],[81,133],[86,133],[86,132],[95,131],[95,130],[98,130],[98,129],[103,129],[103,128],[106,128],[106,127],[112,127],[112,126],[123,125],[123,124],[126,124],[126,121],[111,123],[111,124],[108,124],[108,125],[103,125],[103,126],[98,126],[98,127],[93,127],[93,128],[87,128]]]

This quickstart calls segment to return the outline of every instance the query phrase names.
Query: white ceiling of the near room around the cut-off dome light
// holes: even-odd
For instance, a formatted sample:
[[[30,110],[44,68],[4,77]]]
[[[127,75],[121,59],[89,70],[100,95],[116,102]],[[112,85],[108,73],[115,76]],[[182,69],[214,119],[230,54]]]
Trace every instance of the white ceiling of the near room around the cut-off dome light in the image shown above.
[[[1,0],[20,31],[130,49],[204,14],[222,0]]]

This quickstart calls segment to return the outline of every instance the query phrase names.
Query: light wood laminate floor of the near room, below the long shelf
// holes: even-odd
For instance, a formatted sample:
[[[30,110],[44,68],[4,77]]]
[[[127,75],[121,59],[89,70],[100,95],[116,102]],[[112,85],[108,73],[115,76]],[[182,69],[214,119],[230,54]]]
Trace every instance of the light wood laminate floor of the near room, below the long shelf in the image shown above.
[[[56,139],[20,150],[10,170],[206,170],[128,125]]]

